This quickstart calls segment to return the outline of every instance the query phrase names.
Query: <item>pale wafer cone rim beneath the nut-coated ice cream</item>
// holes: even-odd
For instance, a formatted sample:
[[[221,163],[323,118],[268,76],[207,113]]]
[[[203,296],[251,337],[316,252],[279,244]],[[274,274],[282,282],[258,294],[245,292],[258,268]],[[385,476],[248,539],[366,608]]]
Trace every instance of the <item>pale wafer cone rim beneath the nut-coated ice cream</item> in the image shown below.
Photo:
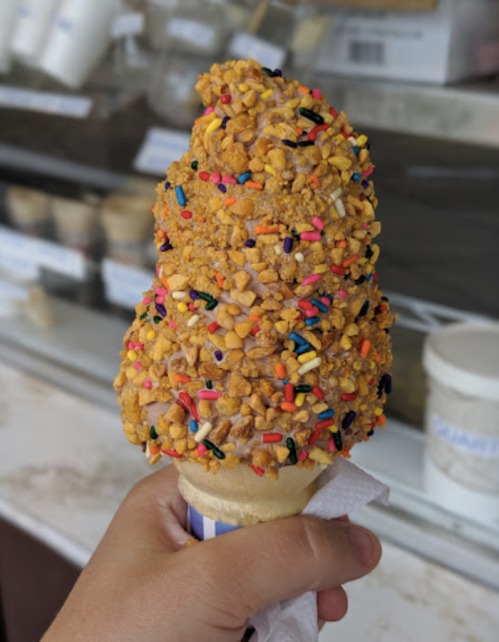
[[[317,490],[323,471],[286,466],[277,480],[258,477],[249,466],[221,468],[216,475],[194,463],[174,461],[179,490],[199,513],[217,522],[251,526],[301,513]]]

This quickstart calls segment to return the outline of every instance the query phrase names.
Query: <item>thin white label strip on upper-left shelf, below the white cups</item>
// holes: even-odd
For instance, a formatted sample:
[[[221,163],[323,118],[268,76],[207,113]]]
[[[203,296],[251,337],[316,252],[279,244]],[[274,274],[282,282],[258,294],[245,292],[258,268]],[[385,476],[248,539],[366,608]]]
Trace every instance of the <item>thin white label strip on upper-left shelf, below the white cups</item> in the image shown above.
[[[85,96],[65,96],[48,91],[0,85],[0,107],[70,118],[87,118],[92,110],[92,101]]]

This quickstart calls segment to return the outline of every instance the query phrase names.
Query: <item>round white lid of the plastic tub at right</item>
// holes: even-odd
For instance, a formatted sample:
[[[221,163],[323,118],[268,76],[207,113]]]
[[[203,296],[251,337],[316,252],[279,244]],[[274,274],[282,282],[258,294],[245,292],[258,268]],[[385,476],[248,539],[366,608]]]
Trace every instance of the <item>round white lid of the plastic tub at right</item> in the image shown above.
[[[448,388],[499,401],[499,323],[456,323],[432,332],[425,342],[423,364]]]

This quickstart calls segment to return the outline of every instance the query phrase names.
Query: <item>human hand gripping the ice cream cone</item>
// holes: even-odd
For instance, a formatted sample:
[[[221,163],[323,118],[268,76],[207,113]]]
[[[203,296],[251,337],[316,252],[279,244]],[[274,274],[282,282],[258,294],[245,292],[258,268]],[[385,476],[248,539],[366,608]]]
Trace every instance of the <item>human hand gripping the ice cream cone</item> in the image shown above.
[[[190,546],[186,514],[173,466],[134,486],[42,642],[239,642],[257,611],[311,590],[339,620],[341,585],[381,557],[370,531],[310,516]]]

